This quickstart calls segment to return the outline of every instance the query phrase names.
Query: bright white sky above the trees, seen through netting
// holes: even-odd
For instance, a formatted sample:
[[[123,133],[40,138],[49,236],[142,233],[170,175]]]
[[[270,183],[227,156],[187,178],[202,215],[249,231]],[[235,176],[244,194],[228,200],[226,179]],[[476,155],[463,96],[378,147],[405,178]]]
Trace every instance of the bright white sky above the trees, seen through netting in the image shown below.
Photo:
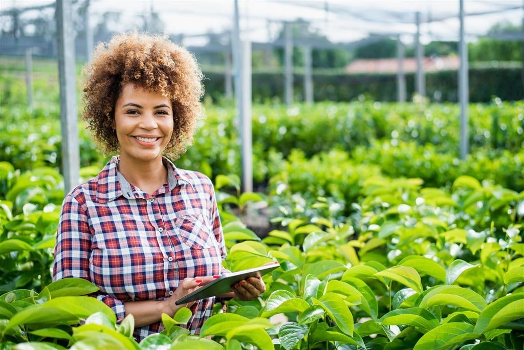
[[[23,8],[35,4],[49,4],[50,0],[3,0],[0,10],[13,6]],[[106,11],[121,12],[123,21],[116,30],[132,29],[136,16],[159,13],[168,34],[184,34],[184,44],[203,45],[206,32],[222,32],[232,27],[233,0],[91,0],[92,25]],[[131,6],[133,5],[133,6]],[[370,33],[400,34],[410,42],[416,32],[414,18],[417,11],[426,18],[451,17],[443,21],[424,23],[421,26],[422,42],[431,40],[457,40],[459,35],[459,0],[239,0],[242,37],[267,42],[280,30],[282,21],[302,18],[333,42],[351,42]],[[468,40],[475,40],[490,26],[499,21],[521,24],[524,15],[522,0],[464,0],[465,12],[478,13],[502,7],[519,7],[498,14],[466,17]],[[377,21],[378,20],[378,21]],[[396,21],[404,23],[396,23]]]

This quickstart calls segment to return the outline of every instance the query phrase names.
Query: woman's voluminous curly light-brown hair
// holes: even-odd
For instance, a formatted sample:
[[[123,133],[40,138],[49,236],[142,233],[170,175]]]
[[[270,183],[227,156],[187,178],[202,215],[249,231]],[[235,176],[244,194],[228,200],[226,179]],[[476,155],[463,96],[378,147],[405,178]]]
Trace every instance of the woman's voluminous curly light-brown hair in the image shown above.
[[[96,46],[84,72],[83,119],[106,154],[116,152],[113,129],[115,103],[122,87],[133,83],[168,97],[173,105],[173,135],[166,154],[180,157],[191,145],[196,123],[203,117],[200,99],[203,74],[193,54],[166,36],[128,32]]]

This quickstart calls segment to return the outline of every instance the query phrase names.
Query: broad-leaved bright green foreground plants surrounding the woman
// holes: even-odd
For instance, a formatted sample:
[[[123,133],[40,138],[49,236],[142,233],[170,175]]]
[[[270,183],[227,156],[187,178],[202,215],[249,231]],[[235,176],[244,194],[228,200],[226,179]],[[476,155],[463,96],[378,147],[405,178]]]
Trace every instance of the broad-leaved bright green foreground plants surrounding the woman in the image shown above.
[[[232,210],[264,196],[218,176],[225,267],[281,267],[264,277],[261,298],[228,302],[200,336],[181,327],[191,316],[183,310],[164,315],[165,331],[138,344],[131,317],[115,324],[111,309],[83,297],[96,287],[50,281],[60,175],[0,167],[8,193],[0,202],[0,334],[9,348],[522,348],[523,192],[467,176],[450,188],[422,187],[356,169],[360,195],[344,217],[340,199],[275,182],[281,201],[268,200],[279,227],[260,239]],[[284,321],[272,321],[277,314]]]

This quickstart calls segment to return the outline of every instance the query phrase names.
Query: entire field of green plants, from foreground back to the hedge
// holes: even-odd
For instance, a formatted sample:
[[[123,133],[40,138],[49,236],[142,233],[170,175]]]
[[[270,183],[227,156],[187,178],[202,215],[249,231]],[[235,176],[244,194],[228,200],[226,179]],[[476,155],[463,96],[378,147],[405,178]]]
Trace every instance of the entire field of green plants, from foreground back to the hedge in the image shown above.
[[[51,281],[65,195],[58,88],[36,82],[27,108],[15,63],[0,107],[2,350],[524,348],[524,101],[470,104],[465,160],[455,104],[254,105],[254,193],[240,190],[232,103],[205,103],[174,162],[214,182],[226,268],[280,267],[200,335],[183,308],[137,343],[133,317],[117,323],[91,282]],[[53,74],[47,64],[36,71]],[[108,156],[79,130],[86,181]]]

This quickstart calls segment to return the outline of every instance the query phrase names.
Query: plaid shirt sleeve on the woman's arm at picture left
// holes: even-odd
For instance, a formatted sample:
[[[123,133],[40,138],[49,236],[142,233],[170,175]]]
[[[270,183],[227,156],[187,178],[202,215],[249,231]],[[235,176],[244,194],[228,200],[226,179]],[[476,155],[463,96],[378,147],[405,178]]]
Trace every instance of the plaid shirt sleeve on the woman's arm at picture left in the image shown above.
[[[68,194],[62,205],[62,213],[54,247],[53,281],[77,277],[90,281],[89,257],[91,255],[91,231],[88,215],[79,201]],[[117,322],[125,317],[124,303],[102,293],[92,294],[113,309]]]

